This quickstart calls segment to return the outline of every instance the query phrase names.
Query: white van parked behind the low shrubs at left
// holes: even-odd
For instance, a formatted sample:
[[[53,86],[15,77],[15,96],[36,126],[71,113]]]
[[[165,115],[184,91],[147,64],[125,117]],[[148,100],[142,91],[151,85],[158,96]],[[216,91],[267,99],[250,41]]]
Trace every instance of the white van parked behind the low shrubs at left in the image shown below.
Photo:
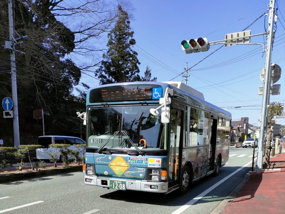
[[[41,147],[39,149],[36,149],[36,158],[38,160],[50,160],[48,153],[52,154],[55,151],[55,148],[50,148],[50,144],[70,144],[69,149],[75,150],[75,146],[73,146],[74,144],[86,144],[86,142],[80,138],[71,136],[46,135],[39,136],[37,144],[41,145]],[[81,151],[79,153],[79,157],[82,157]],[[57,154],[57,159],[61,160],[61,155],[58,149]],[[74,159],[74,157],[71,156],[69,159]]]

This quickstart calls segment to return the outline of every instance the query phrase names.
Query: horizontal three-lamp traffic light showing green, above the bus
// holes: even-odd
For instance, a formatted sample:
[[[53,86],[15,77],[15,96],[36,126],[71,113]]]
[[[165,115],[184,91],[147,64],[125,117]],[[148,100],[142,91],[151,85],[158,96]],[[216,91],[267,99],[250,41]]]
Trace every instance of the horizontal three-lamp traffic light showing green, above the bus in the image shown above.
[[[190,40],[183,40],[181,42],[182,50],[185,53],[197,53],[201,51],[208,51],[210,45],[208,43],[207,38],[198,38],[198,39],[190,39]]]

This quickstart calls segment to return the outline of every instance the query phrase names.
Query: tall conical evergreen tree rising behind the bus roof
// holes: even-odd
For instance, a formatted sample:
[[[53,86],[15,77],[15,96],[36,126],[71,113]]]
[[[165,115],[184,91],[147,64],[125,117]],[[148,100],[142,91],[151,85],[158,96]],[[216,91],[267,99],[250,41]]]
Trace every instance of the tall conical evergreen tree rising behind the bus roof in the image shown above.
[[[129,15],[118,6],[119,18],[108,34],[109,50],[103,54],[101,66],[96,70],[100,84],[140,81],[138,53],[131,49],[136,44],[131,31]]]

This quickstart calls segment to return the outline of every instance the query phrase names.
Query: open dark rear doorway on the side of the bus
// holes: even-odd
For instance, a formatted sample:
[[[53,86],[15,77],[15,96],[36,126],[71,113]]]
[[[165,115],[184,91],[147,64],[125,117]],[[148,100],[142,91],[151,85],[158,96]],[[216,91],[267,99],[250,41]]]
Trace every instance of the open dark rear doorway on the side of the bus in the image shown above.
[[[213,170],[215,164],[215,152],[216,152],[216,145],[217,145],[217,116],[211,115],[210,119],[210,145],[209,145],[209,156],[208,156],[208,169]]]

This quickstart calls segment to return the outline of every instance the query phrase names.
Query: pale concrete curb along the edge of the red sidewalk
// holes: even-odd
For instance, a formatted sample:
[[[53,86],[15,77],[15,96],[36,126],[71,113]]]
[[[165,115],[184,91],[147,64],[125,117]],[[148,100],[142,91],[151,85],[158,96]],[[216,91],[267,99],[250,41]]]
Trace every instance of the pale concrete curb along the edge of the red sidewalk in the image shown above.
[[[247,183],[247,181],[250,178],[251,173],[252,171],[249,171],[248,173],[246,173],[243,181],[241,181],[241,183],[237,185],[237,187],[235,187],[235,189],[210,214],[219,214],[221,211],[223,211],[223,209],[225,209],[228,203],[231,202],[231,200],[237,195],[237,193],[239,193],[241,188]]]

